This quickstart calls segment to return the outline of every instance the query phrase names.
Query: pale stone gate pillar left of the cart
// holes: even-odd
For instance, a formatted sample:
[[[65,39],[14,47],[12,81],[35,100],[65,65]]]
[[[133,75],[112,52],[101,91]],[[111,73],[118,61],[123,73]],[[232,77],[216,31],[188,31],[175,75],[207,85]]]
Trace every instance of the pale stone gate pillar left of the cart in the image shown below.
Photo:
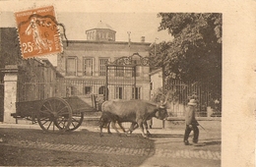
[[[16,113],[18,66],[5,66],[4,76],[4,123],[16,123],[11,113]]]

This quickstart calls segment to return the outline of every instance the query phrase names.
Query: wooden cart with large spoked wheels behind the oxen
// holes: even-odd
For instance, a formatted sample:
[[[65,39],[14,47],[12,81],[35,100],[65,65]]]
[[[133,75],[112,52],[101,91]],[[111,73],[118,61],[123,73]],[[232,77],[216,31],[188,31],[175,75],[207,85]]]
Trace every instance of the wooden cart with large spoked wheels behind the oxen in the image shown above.
[[[71,132],[78,129],[85,112],[96,111],[95,96],[49,97],[44,100],[16,102],[14,118],[38,123],[48,133]]]

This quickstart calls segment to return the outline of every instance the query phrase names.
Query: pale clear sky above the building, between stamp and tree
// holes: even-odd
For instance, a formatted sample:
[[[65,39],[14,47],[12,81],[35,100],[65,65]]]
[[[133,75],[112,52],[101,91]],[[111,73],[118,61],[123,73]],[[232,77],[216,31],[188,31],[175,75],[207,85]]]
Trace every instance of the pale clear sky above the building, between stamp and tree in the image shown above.
[[[85,31],[96,28],[101,21],[116,31],[116,41],[127,41],[131,31],[131,41],[139,42],[141,36],[146,37],[146,42],[160,42],[171,40],[167,30],[159,31],[160,18],[158,13],[86,13],[86,12],[58,12],[57,21],[66,28],[69,40],[85,40]],[[2,11],[0,13],[1,28],[16,27],[14,13]]]

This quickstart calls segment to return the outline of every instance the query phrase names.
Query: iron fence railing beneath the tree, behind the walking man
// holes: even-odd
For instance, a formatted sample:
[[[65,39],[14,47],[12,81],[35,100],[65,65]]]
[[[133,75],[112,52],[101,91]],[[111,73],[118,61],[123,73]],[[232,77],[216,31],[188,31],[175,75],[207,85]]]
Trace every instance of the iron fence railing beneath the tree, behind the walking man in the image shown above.
[[[190,98],[196,98],[197,116],[220,117],[222,116],[221,99],[214,99],[207,83],[182,83],[178,80],[168,80],[166,90],[174,92],[175,99],[169,104],[173,116],[184,116],[185,107]]]

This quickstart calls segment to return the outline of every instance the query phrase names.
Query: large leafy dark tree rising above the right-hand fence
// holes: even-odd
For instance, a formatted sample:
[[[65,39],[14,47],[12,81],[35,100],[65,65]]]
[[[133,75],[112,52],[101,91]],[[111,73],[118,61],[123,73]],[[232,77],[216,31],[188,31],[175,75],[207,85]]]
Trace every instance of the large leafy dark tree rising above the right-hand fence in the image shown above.
[[[209,83],[212,93],[222,91],[222,14],[160,13],[159,30],[172,41],[158,44],[151,55],[164,67],[166,77],[184,83]],[[154,50],[156,48],[152,48]]]

